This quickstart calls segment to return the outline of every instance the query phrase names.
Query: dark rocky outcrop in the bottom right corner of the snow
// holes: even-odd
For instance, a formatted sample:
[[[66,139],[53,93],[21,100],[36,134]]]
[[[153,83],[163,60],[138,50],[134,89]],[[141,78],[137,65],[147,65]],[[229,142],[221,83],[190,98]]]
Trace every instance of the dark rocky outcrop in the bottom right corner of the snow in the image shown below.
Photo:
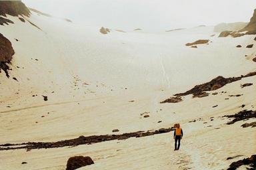
[[[227,170],[235,170],[241,167],[242,165],[249,165],[251,167],[247,167],[247,169],[256,169],[256,155],[251,155],[251,157],[247,157],[245,159],[231,163]]]

